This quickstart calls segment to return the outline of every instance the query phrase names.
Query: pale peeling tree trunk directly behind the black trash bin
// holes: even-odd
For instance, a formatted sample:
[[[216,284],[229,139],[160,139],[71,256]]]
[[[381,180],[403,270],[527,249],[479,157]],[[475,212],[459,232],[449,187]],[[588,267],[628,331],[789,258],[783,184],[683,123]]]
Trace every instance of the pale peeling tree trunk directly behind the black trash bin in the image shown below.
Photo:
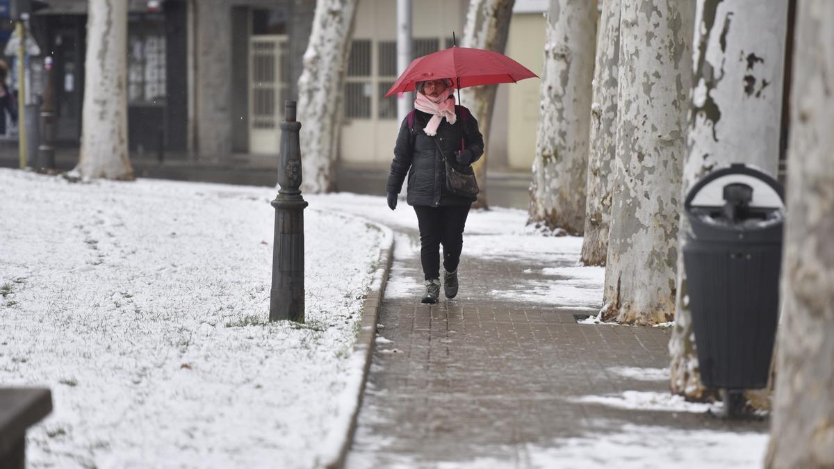
[[[699,0],[696,25],[681,199],[718,165],[754,164],[774,179],[779,166],[787,3]],[[686,216],[680,228],[682,246],[689,231]],[[703,401],[712,396],[701,385],[681,250],[678,254],[670,388],[691,401]]]

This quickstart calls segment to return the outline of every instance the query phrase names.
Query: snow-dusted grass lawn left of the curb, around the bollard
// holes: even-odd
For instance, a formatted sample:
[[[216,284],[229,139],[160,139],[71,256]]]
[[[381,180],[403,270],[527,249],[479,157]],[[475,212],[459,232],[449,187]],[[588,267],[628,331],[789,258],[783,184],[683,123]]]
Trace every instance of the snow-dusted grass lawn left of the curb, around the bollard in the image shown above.
[[[269,323],[275,192],[0,169],[0,386],[53,391],[29,466],[316,464],[383,234],[311,204],[307,322]]]

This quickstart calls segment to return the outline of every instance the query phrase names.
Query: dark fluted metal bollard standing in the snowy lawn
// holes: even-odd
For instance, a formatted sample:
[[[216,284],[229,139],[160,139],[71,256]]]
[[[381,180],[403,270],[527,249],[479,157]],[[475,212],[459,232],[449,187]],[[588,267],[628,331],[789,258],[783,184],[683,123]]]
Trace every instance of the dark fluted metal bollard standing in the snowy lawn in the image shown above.
[[[285,101],[284,106],[278,168],[281,189],[271,203],[275,208],[275,239],[269,320],[304,322],[304,209],[308,204],[299,190],[301,123],[295,121],[295,101]]]

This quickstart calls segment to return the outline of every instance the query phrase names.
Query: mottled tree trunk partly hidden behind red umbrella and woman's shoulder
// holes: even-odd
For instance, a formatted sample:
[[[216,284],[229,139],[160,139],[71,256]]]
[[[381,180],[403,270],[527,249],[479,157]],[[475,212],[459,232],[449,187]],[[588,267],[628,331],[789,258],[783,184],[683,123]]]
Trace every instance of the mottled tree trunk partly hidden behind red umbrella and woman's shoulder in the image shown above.
[[[507,35],[510,33],[510,19],[514,4],[515,0],[470,0],[461,45],[465,48],[489,49],[504,53]],[[495,88],[496,86],[487,85],[460,90],[460,104],[470,109],[475,119],[478,119],[480,133],[484,134],[484,156],[472,165],[480,187],[478,200],[472,206],[480,209],[488,208],[486,164],[490,149],[488,142],[492,110],[495,107],[495,92],[498,89]]]

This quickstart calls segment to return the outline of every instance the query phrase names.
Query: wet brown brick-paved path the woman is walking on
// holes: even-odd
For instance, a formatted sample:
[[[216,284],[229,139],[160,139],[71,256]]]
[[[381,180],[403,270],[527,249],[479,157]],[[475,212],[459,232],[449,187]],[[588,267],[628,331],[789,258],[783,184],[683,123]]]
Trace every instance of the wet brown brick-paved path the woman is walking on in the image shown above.
[[[409,235],[416,243],[416,234]],[[419,262],[418,256],[395,259],[390,279],[421,278]],[[628,390],[668,392],[666,379],[641,381],[611,370],[666,368],[668,332],[580,325],[570,305],[490,293],[523,282],[559,281],[535,275],[554,266],[465,256],[457,299],[422,305],[416,286],[409,298],[384,299],[378,337],[391,342],[378,339],[346,466],[536,467],[531,449],[625,424],[726,426],[703,413],[571,401]],[[766,423],[745,425],[763,431]]]

